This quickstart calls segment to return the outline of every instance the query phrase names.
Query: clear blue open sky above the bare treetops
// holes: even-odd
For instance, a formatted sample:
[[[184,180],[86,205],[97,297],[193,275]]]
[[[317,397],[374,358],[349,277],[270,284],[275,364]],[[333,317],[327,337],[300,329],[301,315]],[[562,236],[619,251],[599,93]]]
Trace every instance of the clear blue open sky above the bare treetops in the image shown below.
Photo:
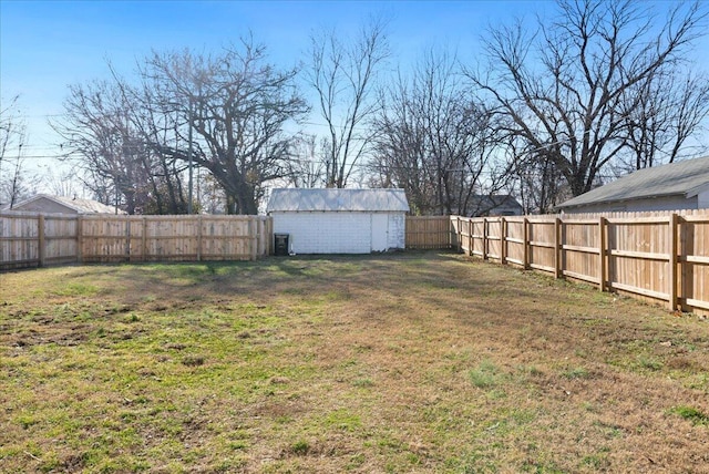
[[[266,44],[271,62],[294,65],[309,34],[353,34],[370,16],[390,21],[395,61],[427,48],[473,55],[489,24],[538,11],[533,1],[17,1],[0,0],[0,89],[3,103],[20,95],[29,155],[52,154],[47,126],[62,113],[68,85],[106,76],[106,61],[130,74],[152,50],[212,51],[248,34]],[[532,14],[532,13],[530,13]]]

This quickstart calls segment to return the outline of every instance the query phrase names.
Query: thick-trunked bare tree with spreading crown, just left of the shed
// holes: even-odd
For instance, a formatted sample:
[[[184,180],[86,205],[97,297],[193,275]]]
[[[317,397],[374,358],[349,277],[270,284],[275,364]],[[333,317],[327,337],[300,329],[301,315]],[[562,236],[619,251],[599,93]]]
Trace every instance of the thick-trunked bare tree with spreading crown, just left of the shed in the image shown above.
[[[151,146],[208,169],[229,214],[257,214],[264,185],[287,174],[291,136],[284,128],[308,111],[295,84],[297,70],[274,69],[264,47],[243,41],[240,51],[232,47],[214,56],[155,53],[141,74],[155,115],[186,124],[175,126],[171,138],[152,134]]]

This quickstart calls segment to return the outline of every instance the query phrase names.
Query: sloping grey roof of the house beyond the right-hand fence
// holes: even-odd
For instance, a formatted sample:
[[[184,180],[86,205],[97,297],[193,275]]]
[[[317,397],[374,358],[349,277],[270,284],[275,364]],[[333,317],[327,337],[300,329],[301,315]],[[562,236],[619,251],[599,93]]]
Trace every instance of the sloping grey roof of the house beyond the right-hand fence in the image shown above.
[[[568,199],[558,209],[662,196],[693,197],[709,187],[709,156],[639,169]]]

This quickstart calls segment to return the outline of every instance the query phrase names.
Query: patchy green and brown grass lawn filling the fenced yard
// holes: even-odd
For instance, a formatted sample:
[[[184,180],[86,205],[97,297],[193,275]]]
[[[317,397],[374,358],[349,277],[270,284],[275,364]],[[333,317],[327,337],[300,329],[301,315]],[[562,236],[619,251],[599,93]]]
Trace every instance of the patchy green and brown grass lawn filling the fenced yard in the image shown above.
[[[709,322],[452,254],[0,274],[0,472],[709,472]]]

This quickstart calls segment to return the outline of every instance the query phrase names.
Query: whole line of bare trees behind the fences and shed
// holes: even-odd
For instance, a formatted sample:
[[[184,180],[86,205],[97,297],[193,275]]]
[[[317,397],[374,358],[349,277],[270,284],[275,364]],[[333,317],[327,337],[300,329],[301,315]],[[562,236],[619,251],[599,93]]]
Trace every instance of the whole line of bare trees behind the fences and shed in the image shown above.
[[[156,51],[131,80],[110,66],[72,85],[52,125],[91,194],[131,214],[256,214],[273,186],[401,187],[419,214],[481,214],[480,196],[512,194],[546,213],[703,151],[709,81],[687,58],[707,12],[661,7],[561,0],[551,18],[484,31],[474,61],[432,48],[405,68],[381,20],[312,33],[291,68],[250,37]],[[0,125],[9,202],[24,131],[10,107]]]

